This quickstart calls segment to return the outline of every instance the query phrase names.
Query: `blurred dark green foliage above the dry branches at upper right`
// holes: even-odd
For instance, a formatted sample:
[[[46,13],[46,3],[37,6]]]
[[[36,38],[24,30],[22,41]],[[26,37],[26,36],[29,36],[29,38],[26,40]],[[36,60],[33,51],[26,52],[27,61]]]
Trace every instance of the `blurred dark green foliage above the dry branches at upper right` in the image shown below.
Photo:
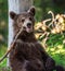
[[[58,3],[61,3],[60,1]],[[65,2],[64,0],[62,1]],[[65,4],[58,5],[54,0],[34,0],[34,4],[37,8],[36,19],[38,21],[51,17],[50,15],[48,16],[48,11],[53,11],[55,14],[65,13]]]

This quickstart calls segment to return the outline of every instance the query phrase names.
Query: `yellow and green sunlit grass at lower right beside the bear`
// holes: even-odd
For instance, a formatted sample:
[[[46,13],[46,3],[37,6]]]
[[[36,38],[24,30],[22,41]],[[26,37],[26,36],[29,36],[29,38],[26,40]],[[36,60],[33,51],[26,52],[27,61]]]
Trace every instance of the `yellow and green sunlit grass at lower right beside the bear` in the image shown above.
[[[61,64],[65,67],[65,48],[63,45],[58,45],[56,47],[47,48],[49,55],[55,60],[56,64]]]

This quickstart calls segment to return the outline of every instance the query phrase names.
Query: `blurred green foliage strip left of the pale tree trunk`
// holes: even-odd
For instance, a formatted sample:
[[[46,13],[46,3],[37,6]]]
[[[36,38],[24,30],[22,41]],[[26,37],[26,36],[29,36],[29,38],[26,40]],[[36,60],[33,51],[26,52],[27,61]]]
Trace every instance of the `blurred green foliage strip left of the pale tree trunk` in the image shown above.
[[[8,45],[8,0],[0,0],[0,58],[5,54]],[[6,59],[0,63],[0,71],[2,67],[6,66]]]

